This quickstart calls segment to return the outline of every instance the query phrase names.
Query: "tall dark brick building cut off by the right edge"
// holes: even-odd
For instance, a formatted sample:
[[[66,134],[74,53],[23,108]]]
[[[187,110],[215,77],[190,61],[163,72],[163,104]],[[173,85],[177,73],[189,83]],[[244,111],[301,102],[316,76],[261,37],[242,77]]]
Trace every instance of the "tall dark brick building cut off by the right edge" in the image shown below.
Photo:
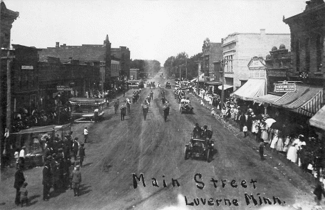
[[[317,85],[324,85],[325,60],[325,3],[322,0],[307,1],[306,10],[283,19],[291,31],[292,69],[289,76],[297,80],[301,73]],[[305,82],[308,82],[305,80]]]

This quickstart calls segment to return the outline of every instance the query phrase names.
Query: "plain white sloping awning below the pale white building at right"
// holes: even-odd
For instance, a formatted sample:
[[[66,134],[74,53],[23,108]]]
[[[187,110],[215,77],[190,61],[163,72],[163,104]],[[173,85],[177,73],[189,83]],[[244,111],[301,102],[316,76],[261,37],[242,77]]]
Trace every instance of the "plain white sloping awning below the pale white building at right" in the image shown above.
[[[265,95],[265,80],[249,79],[236,90],[232,96],[242,100],[253,100],[253,98]]]

